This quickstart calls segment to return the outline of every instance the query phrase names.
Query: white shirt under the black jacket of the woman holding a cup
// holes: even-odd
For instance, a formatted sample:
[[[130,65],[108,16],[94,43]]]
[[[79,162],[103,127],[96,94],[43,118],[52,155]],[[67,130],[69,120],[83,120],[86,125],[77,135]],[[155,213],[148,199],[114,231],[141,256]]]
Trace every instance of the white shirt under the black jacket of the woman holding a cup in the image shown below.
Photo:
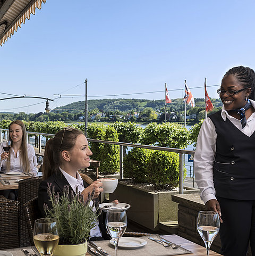
[[[73,176],[71,176],[70,174],[67,174],[67,172],[65,172],[63,169],[61,169],[62,174],[64,175],[64,177],[66,178],[66,180],[68,181],[68,183],[70,184],[71,188],[73,189],[74,193],[76,191],[76,187],[78,187],[78,191],[82,192],[84,190],[83,187],[83,179],[81,178],[79,172],[77,172],[77,178],[74,178]],[[91,200],[89,203],[89,206],[92,207],[93,201]],[[94,206],[92,211],[96,211],[96,207]],[[101,230],[99,228],[99,221],[96,221],[96,226],[94,228],[92,228],[90,230],[90,237],[94,237],[94,236],[102,236]]]

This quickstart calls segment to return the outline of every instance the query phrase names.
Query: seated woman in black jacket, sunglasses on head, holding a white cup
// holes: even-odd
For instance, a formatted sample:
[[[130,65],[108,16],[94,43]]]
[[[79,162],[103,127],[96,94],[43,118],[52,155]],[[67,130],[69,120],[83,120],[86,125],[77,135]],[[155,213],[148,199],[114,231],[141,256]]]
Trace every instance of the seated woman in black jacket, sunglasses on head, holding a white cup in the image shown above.
[[[86,200],[88,193],[95,189],[94,199],[104,189],[100,180],[93,181],[87,175],[80,174],[78,170],[90,166],[90,156],[92,152],[88,147],[87,138],[82,131],[71,127],[66,127],[56,133],[54,138],[49,139],[45,146],[43,176],[38,191],[38,206],[41,215],[45,216],[44,203],[51,208],[49,196],[47,194],[47,183],[55,186],[55,193],[63,195],[63,188],[70,185],[70,189],[75,193],[76,188]],[[118,203],[115,200],[115,203]],[[90,202],[92,205],[92,201]],[[95,207],[93,209],[96,211]],[[90,230],[90,241],[109,239],[103,221],[103,214],[98,217],[96,227]]]

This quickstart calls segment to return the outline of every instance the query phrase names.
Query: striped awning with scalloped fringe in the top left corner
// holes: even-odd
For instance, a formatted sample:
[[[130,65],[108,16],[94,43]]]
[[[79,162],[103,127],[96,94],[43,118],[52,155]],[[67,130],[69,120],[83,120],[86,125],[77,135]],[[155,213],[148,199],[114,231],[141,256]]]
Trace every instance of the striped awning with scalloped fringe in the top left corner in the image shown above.
[[[17,3],[19,1],[15,1],[11,6],[10,9],[6,12],[6,17],[9,15],[14,15],[15,12],[20,8],[20,3]],[[25,19],[30,19],[31,13],[35,15],[36,8],[41,9],[42,3],[46,3],[46,0],[35,0],[31,1],[27,6],[24,7],[24,9],[19,13],[18,16],[13,20],[13,22],[6,28],[6,30],[3,32],[2,35],[0,35],[0,45],[2,46],[5,41],[7,42],[8,38],[11,38],[11,35],[14,34],[14,31],[17,31],[18,28],[21,28],[21,24],[25,23]],[[16,3],[16,6],[15,6]],[[6,18],[7,19],[7,18]],[[4,23],[1,24],[1,26],[4,26]]]

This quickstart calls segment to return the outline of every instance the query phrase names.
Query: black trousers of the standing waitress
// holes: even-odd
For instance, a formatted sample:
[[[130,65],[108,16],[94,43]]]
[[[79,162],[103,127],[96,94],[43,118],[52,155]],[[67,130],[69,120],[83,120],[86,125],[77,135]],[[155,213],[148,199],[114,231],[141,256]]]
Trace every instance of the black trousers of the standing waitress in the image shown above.
[[[245,256],[250,242],[255,256],[255,200],[232,200],[219,196],[217,200],[223,220],[219,229],[222,254]]]

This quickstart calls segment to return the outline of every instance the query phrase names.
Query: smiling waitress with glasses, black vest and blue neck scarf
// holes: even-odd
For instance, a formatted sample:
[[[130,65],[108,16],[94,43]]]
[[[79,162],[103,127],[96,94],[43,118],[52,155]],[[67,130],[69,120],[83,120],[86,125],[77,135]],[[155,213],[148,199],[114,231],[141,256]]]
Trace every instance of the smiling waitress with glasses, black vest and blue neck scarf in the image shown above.
[[[206,209],[219,213],[222,254],[255,255],[255,73],[228,70],[217,93],[223,108],[203,122],[194,155]]]

